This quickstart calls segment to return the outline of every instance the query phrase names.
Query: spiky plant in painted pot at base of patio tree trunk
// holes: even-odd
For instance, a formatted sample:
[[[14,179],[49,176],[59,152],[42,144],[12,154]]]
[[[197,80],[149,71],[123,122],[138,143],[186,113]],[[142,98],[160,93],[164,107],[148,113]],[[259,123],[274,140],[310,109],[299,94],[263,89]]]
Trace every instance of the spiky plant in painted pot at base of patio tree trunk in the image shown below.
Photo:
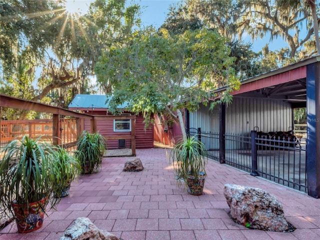
[[[187,191],[192,195],[201,195],[203,192],[207,163],[205,152],[204,144],[196,135],[177,143],[170,152],[178,185],[183,181]]]

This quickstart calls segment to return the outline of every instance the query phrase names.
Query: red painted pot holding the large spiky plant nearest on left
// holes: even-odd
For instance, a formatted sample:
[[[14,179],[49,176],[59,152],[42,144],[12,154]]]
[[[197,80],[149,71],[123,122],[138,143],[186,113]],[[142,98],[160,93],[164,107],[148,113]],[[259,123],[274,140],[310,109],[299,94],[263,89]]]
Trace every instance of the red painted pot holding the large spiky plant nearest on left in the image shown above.
[[[12,207],[16,216],[15,222],[18,232],[26,233],[39,229],[42,226],[44,211],[41,206],[45,200],[46,198],[43,198],[38,202],[31,202],[28,206],[24,205],[22,207],[13,200]]]

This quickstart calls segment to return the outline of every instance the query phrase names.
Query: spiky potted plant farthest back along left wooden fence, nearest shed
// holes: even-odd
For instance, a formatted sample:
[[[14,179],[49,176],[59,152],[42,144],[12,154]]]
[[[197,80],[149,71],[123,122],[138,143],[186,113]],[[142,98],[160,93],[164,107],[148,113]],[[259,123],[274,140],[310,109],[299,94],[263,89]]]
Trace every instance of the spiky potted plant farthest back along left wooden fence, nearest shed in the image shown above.
[[[81,174],[91,174],[99,170],[105,145],[105,139],[101,134],[82,131],[77,139],[75,152],[81,165]]]

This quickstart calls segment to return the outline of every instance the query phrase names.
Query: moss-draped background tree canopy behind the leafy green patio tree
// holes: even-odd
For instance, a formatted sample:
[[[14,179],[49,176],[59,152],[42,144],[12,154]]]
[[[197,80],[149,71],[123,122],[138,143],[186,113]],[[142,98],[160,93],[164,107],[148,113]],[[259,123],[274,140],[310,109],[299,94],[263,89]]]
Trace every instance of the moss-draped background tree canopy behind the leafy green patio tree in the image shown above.
[[[160,29],[149,27],[148,32],[138,31],[138,3],[125,0],[95,0],[83,14],[68,12],[65,0],[0,0],[0,92],[66,107],[76,93],[96,92],[90,77],[99,56],[106,54],[102,49],[132,47],[137,36],[178,39],[185,32],[204,29],[224,36],[234,75],[248,78],[319,52],[319,4],[317,0],[183,0],[170,7]],[[138,33],[133,36],[134,30]],[[246,34],[252,42],[243,40]],[[265,35],[269,42],[282,38],[287,46],[271,51],[267,42],[259,52],[251,50],[252,43]],[[105,93],[115,91],[114,86],[112,77],[99,83]],[[11,119],[26,117],[7,113]]]

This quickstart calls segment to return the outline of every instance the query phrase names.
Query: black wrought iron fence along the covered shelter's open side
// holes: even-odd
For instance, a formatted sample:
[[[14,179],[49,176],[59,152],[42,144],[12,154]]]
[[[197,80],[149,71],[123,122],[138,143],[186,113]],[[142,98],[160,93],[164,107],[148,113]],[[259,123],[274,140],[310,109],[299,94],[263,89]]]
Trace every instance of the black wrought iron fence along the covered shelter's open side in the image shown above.
[[[210,159],[219,160],[219,133],[187,130],[205,144]],[[306,144],[297,137],[258,136],[227,133],[225,163],[268,180],[307,192]]]

